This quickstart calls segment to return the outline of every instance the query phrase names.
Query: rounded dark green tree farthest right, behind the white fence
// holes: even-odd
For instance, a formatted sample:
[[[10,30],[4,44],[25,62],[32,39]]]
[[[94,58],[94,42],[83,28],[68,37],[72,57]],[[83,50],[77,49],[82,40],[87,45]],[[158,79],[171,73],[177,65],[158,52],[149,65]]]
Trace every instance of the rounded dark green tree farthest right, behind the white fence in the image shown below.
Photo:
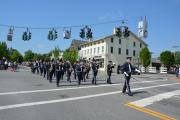
[[[174,59],[174,54],[171,53],[170,51],[164,51],[160,54],[160,61],[161,63],[164,64],[164,66],[167,67],[167,69],[169,70],[169,68],[174,64],[175,59]]]

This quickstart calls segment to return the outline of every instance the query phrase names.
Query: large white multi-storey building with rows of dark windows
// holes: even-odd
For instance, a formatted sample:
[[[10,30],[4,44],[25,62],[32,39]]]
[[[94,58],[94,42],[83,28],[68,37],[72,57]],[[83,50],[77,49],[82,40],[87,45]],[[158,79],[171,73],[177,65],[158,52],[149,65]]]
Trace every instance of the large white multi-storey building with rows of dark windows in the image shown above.
[[[118,38],[110,35],[96,41],[81,44],[79,51],[80,58],[85,60],[96,59],[100,65],[100,70],[105,71],[108,61],[112,61],[116,66],[122,65],[126,57],[132,57],[133,63],[139,63],[139,52],[147,44],[130,32],[128,38]]]

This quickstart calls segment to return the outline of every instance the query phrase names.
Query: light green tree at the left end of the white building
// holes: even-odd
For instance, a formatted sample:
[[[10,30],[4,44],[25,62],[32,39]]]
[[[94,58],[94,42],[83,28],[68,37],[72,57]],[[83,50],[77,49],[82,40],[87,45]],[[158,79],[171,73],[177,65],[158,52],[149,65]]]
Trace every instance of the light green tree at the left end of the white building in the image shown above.
[[[75,62],[78,58],[78,51],[76,49],[67,49],[63,53],[64,60],[69,60],[70,62]]]

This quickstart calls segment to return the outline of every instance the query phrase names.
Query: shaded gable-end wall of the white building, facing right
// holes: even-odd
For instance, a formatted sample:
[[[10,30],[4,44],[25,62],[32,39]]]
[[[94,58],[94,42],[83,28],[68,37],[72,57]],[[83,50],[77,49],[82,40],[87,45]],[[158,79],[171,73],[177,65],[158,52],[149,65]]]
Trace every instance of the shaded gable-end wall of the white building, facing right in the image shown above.
[[[133,36],[129,36],[128,38],[121,38],[121,44],[119,44],[119,38],[114,36],[113,43],[111,43],[111,38],[107,41],[108,45],[108,61],[111,60],[116,65],[122,65],[127,57],[132,57],[132,61],[137,59],[139,56],[140,50],[144,47],[142,44],[142,48],[140,48],[140,41],[137,40]],[[133,45],[135,42],[135,46]],[[111,47],[113,47],[113,54],[111,53]],[[121,54],[118,53],[118,49],[121,48]],[[126,55],[126,49],[128,49],[129,54]],[[135,50],[135,56],[133,56],[133,50]],[[134,61],[135,62],[135,61]]]

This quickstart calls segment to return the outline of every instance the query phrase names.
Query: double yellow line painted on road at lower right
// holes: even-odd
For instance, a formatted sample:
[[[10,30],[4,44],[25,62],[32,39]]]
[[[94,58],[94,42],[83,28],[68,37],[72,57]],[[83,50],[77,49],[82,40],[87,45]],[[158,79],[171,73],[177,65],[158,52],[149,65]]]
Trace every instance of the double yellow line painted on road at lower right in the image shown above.
[[[160,118],[161,120],[176,120],[176,119],[173,118],[173,117],[170,117],[170,116],[167,116],[167,115],[165,115],[165,114],[162,114],[162,113],[153,111],[153,110],[148,109],[148,108],[144,108],[144,107],[137,106],[137,105],[132,104],[132,103],[127,103],[127,104],[125,104],[125,105],[128,106],[128,107],[130,107],[130,108],[136,109],[136,110],[138,110],[138,111],[141,111],[141,112],[150,114],[150,115],[152,115],[152,116],[158,117],[158,118]]]

